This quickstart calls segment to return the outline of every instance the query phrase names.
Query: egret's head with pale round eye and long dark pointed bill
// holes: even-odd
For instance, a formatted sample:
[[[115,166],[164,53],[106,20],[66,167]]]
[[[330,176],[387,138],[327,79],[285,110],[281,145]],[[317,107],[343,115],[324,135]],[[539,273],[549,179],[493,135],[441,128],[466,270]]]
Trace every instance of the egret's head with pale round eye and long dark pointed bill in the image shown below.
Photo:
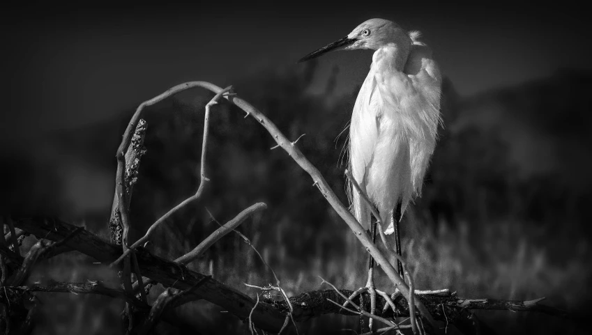
[[[304,56],[298,63],[317,58],[327,52],[337,50],[373,49],[377,50],[390,43],[411,44],[411,38],[404,29],[395,22],[384,19],[370,19],[356,26],[344,38],[336,40],[321,49]]]

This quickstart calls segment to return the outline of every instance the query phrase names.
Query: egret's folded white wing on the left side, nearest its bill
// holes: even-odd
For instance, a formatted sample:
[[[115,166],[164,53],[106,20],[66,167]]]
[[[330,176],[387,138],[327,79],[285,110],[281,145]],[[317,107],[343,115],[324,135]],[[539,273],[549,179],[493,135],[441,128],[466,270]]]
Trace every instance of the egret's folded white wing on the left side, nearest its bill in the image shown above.
[[[379,108],[376,91],[377,81],[371,68],[358,93],[349,129],[349,164],[354,178],[360,185],[363,184],[378,137]]]

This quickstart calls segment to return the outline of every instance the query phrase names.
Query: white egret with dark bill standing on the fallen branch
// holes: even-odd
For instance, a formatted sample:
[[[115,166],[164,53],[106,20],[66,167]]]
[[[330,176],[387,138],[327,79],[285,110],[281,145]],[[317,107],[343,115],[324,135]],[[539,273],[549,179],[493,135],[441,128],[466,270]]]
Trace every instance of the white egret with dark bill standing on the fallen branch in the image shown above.
[[[399,223],[409,203],[421,194],[441,123],[440,71],[431,49],[419,38],[418,31],[408,32],[389,20],[371,19],[356,26],[344,38],[298,61],[335,50],[376,50],[351,115],[349,169],[376,206],[381,216],[377,219],[388,220],[384,233],[395,233],[399,255]],[[376,222],[371,223],[370,206],[351,186],[348,191],[356,219],[370,228],[375,242]],[[373,267],[371,256],[368,281],[363,289],[370,292],[374,301]],[[404,279],[398,260],[397,267]]]

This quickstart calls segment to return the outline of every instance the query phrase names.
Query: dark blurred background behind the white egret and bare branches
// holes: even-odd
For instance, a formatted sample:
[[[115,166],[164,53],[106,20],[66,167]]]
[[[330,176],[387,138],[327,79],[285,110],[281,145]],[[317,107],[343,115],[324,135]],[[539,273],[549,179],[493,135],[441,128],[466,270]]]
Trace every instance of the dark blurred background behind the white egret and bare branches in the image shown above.
[[[3,8],[0,203],[14,216],[51,215],[107,237],[115,151],[135,107],[183,81],[233,84],[298,146],[344,196],[340,155],[372,52],[337,52],[296,64],[372,17],[423,32],[445,76],[441,139],[424,195],[403,224],[416,286],[463,297],[534,299],[581,313],[591,301],[589,236],[592,72],[586,11],[575,3],[216,4],[100,2]],[[132,198],[135,239],[195,192],[204,91],[146,111],[147,154]],[[366,255],[306,175],[235,107],[211,120],[204,200],[167,222],[153,251],[170,258],[195,247],[220,222],[265,201],[241,231],[290,294],[365,283]],[[40,266],[39,280],[112,274],[82,256]],[[233,235],[195,262],[240,290],[271,276]],[[379,274],[378,285],[392,290]],[[156,288],[158,291],[161,288]],[[255,296],[255,290],[247,290]],[[109,334],[120,307],[96,297],[47,295],[38,334]],[[47,305],[47,304],[46,304]],[[203,329],[245,332],[209,304],[182,309]],[[529,313],[478,313],[499,334],[578,332]],[[301,325],[334,331],[352,318]],[[354,318],[355,319],[355,318]],[[227,327],[224,328],[224,327]],[[581,330],[581,329],[580,329]]]

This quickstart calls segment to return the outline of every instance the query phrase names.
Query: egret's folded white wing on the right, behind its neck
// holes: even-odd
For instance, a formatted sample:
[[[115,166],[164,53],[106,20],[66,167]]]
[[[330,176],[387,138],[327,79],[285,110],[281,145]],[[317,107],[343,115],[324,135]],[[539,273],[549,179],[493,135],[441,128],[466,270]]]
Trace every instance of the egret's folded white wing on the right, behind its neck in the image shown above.
[[[412,38],[415,36],[411,36]],[[423,176],[434,148],[440,116],[441,75],[437,63],[432,58],[432,50],[414,38],[411,52],[404,68],[416,93],[413,115],[421,125],[418,136],[410,137],[411,178],[416,194],[420,194]]]

